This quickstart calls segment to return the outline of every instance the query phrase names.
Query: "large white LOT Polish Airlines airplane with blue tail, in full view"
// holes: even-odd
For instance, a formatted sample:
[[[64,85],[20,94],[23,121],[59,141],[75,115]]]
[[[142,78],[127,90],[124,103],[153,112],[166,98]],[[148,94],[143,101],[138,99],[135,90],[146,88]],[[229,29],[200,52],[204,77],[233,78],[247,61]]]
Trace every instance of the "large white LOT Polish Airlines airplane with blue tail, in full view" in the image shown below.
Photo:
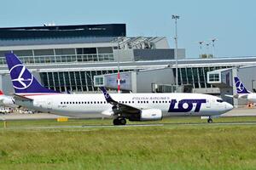
[[[212,116],[233,109],[233,105],[208,94],[61,94],[45,88],[12,52],[5,54],[15,88],[15,104],[61,116],[110,116],[113,125],[157,121],[163,116]]]

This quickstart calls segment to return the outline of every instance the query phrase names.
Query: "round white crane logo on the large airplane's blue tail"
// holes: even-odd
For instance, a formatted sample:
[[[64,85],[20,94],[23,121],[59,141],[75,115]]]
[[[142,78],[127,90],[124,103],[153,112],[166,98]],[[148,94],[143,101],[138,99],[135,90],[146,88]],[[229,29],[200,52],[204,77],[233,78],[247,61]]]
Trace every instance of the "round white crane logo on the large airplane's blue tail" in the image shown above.
[[[13,85],[16,89],[26,89],[32,85],[33,76],[24,65],[15,65],[10,69]]]

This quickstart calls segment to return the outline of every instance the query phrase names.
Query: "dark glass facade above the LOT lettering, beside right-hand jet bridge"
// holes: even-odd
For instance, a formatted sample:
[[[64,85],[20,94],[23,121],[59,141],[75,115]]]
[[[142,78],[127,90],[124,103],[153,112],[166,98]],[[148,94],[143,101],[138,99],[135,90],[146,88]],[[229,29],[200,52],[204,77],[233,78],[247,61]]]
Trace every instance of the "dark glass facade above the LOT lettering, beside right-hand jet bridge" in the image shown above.
[[[212,66],[212,67],[184,67],[178,68],[177,80],[179,85],[192,85],[193,88],[213,88],[207,83],[207,71],[229,68],[229,66]],[[176,77],[176,69],[172,69]],[[218,74],[217,74],[218,75]],[[212,80],[218,81],[219,76],[213,75]],[[211,77],[210,77],[211,80]]]

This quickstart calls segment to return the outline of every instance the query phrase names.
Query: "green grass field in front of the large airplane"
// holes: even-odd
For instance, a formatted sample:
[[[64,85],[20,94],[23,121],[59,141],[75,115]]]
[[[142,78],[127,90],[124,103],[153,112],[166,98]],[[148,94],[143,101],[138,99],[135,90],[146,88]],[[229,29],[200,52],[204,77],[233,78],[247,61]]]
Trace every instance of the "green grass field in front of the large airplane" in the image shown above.
[[[0,130],[0,169],[255,169],[256,125],[23,127],[111,124],[111,120],[12,121]],[[256,122],[227,117],[214,122]],[[153,122],[152,122],[153,123]],[[159,122],[156,122],[159,123]]]

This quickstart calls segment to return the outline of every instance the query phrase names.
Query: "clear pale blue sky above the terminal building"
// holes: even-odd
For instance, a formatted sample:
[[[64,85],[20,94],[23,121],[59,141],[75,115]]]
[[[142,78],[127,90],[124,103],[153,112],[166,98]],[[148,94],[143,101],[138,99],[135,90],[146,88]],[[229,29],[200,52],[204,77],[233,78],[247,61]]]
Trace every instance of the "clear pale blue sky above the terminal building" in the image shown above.
[[[216,57],[256,56],[254,0],[3,0],[0,27],[125,23],[127,37],[167,37],[187,58],[198,58],[200,41],[215,42]],[[212,48],[203,46],[203,53]]]

